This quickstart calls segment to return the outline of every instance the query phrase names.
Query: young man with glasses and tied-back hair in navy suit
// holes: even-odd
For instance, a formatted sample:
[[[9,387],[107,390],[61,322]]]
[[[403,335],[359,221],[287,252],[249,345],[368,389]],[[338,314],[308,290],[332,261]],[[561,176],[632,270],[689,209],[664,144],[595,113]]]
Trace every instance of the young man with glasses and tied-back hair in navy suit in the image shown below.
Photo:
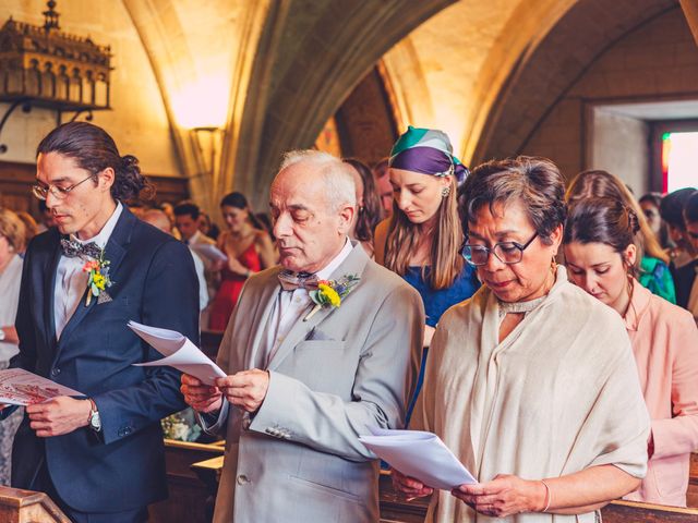
[[[194,264],[184,244],[121,203],[148,184],[104,130],[61,125],[37,153],[33,191],[57,227],[26,254],[11,366],[85,397],[26,408],[12,485],[49,494],[75,522],[140,523],[167,497],[160,418],[185,405],[178,372],[133,366],[160,355],[127,321],[198,343]]]

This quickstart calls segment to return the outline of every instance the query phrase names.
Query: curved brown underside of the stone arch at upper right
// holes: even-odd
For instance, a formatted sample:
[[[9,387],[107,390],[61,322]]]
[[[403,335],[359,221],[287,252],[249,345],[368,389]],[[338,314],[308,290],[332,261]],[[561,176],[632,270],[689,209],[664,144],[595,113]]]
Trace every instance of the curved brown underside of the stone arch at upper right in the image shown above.
[[[472,160],[519,154],[556,100],[623,36],[677,9],[674,0],[582,0],[508,72],[489,111]]]

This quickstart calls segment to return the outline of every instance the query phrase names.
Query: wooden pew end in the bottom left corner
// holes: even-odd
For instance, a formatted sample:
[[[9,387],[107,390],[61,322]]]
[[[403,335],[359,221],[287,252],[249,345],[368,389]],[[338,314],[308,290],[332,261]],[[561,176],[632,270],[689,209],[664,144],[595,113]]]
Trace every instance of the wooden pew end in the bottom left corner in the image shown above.
[[[70,520],[44,492],[0,486],[2,523],[70,523]]]

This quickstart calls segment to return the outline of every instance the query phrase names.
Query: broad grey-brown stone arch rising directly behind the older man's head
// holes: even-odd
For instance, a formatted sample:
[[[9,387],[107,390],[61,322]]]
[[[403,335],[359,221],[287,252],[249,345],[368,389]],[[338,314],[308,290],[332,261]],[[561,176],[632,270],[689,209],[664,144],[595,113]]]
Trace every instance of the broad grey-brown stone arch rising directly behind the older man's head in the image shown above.
[[[266,204],[280,154],[310,147],[325,121],[378,59],[454,0],[347,2],[293,0],[269,10],[255,60],[236,154],[224,157],[234,184]],[[292,16],[291,16],[292,14]],[[322,60],[314,60],[323,49]],[[227,142],[230,144],[230,142]]]

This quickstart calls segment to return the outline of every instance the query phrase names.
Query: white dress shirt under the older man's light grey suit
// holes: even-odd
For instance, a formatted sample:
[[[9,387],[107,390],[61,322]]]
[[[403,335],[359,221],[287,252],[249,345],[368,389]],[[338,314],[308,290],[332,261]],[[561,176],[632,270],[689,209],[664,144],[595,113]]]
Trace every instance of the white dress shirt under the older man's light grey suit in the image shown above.
[[[349,256],[353,245],[347,239],[344,248],[335,256],[329,264],[315,272],[318,280],[327,280],[332,273],[341,265],[341,263]],[[293,325],[301,319],[301,316],[310,313],[310,305],[314,305],[308,290],[303,288],[294,289],[292,291],[279,290],[275,299],[274,309],[269,317],[270,328],[267,330],[266,344],[266,357],[264,358],[265,366],[268,366],[269,362],[276,354],[279,345],[284,342],[284,339],[291,331]]]

